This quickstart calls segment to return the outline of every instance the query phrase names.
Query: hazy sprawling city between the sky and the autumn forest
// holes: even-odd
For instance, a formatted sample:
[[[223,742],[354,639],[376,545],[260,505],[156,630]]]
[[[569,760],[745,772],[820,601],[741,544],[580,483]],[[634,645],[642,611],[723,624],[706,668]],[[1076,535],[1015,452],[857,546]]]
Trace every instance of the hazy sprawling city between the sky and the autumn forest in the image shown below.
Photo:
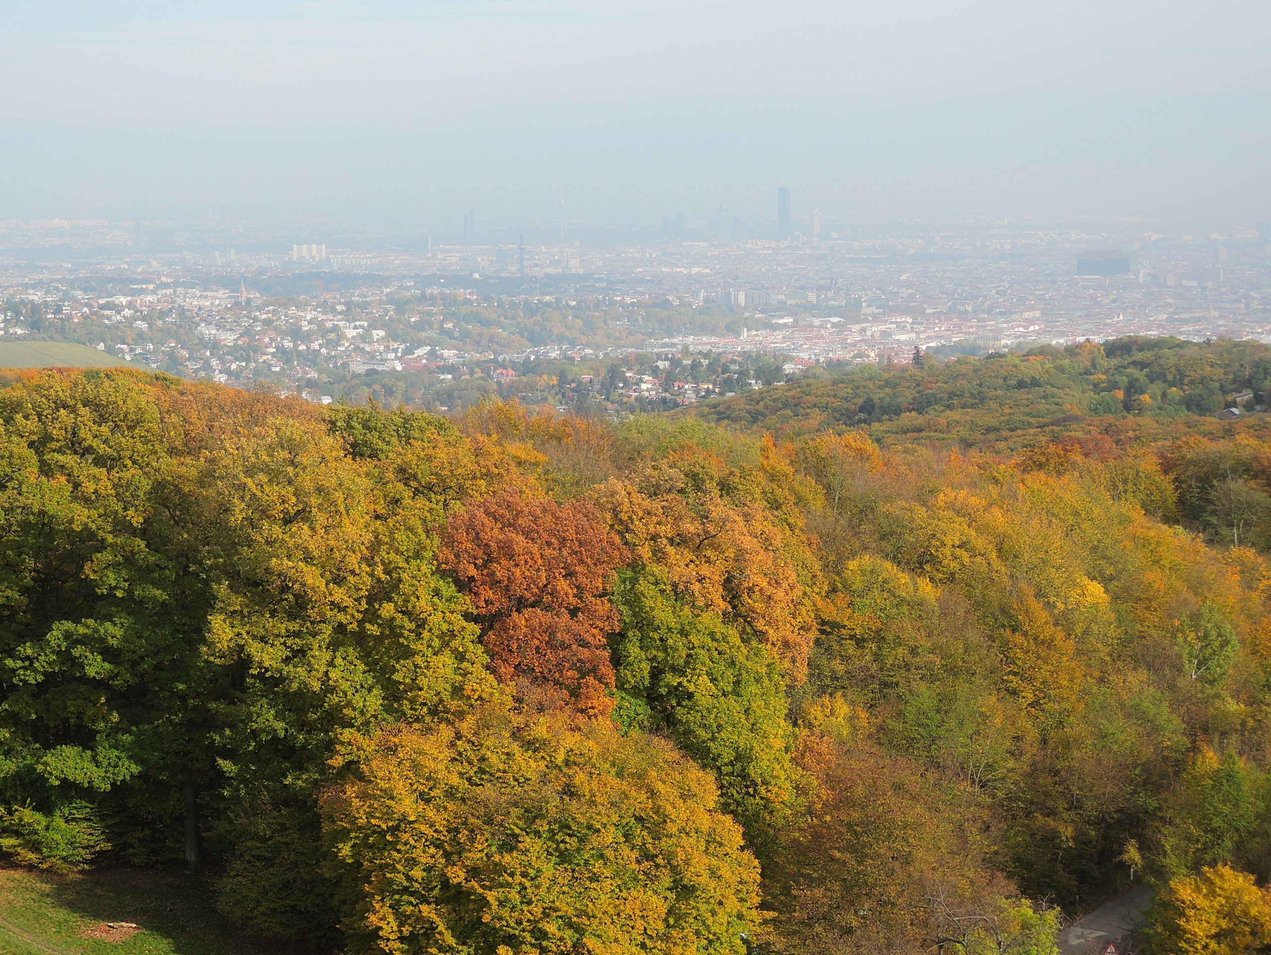
[[[721,210],[702,226],[679,216],[660,239],[592,244],[480,244],[473,210],[461,241],[6,222],[0,343],[79,342],[314,400],[449,408],[498,392],[613,409],[924,353],[1131,334],[1271,340],[1261,229],[880,227],[816,213],[802,234],[789,212],[780,189],[756,237]]]

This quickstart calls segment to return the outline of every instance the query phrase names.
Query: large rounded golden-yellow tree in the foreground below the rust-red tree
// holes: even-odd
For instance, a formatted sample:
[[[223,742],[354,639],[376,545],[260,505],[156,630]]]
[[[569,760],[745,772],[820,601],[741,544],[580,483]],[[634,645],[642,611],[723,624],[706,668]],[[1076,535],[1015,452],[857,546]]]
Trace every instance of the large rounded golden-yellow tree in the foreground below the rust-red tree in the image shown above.
[[[609,720],[386,730],[324,799],[350,952],[741,955],[759,866],[710,776]]]

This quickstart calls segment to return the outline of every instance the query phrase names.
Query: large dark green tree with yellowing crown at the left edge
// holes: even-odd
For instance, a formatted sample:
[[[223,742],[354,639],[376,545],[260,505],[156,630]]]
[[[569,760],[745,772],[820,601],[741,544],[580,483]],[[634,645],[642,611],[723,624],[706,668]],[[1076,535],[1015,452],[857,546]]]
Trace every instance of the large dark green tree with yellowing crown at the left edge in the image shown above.
[[[167,441],[168,386],[43,373],[0,392],[0,794],[50,819],[104,809],[139,861],[172,851],[156,831],[215,771],[220,692],[200,660],[217,535]]]

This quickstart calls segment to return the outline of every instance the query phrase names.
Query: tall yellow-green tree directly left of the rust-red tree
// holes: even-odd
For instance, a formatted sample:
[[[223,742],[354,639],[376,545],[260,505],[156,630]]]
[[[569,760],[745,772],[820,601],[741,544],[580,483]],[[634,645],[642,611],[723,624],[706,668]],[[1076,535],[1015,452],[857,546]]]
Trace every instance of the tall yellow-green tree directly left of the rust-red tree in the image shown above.
[[[329,932],[316,795],[337,751],[494,688],[466,602],[437,571],[441,504],[398,480],[416,444],[367,466],[322,425],[277,420],[206,464],[234,544],[205,649],[229,682],[214,709],[234,846],[221,905],[258,931]]]

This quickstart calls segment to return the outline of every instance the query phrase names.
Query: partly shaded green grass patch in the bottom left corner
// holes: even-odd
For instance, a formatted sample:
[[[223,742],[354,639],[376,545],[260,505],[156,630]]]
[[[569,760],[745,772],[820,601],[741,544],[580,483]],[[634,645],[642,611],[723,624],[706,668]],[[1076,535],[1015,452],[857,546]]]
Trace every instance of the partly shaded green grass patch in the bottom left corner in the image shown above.
[[[142,927],[130,938],[85,937],[107,922]],[[117,869],[50,875],[0,867],[4,955],[266,955],[285,944],[234,931],[212,904],[205,876]]]

